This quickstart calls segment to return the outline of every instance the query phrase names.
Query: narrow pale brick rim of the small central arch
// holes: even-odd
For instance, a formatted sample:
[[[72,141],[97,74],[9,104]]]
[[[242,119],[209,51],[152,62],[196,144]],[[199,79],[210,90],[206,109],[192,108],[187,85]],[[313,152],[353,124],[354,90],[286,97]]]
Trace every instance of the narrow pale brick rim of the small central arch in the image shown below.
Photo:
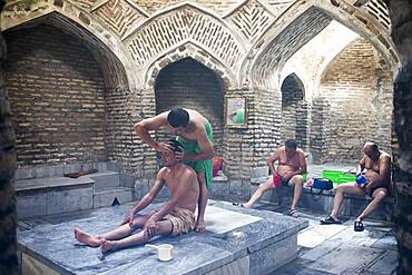
[[[193,42],[186,42],[176,48],[171,49],[166,55],[160,56],[144,72],[145,86],[147,89],[153,89],[156,78],[158,77],[161,69],[168,65],[176,62],[185,58],[193,58],[199,63],[213,70],[222,79],[225,88],[233,87],[236,84],[235,76],[232,73],[229,68],[225,67],[218,58],[212,53],[203,50],[200,47]]]

